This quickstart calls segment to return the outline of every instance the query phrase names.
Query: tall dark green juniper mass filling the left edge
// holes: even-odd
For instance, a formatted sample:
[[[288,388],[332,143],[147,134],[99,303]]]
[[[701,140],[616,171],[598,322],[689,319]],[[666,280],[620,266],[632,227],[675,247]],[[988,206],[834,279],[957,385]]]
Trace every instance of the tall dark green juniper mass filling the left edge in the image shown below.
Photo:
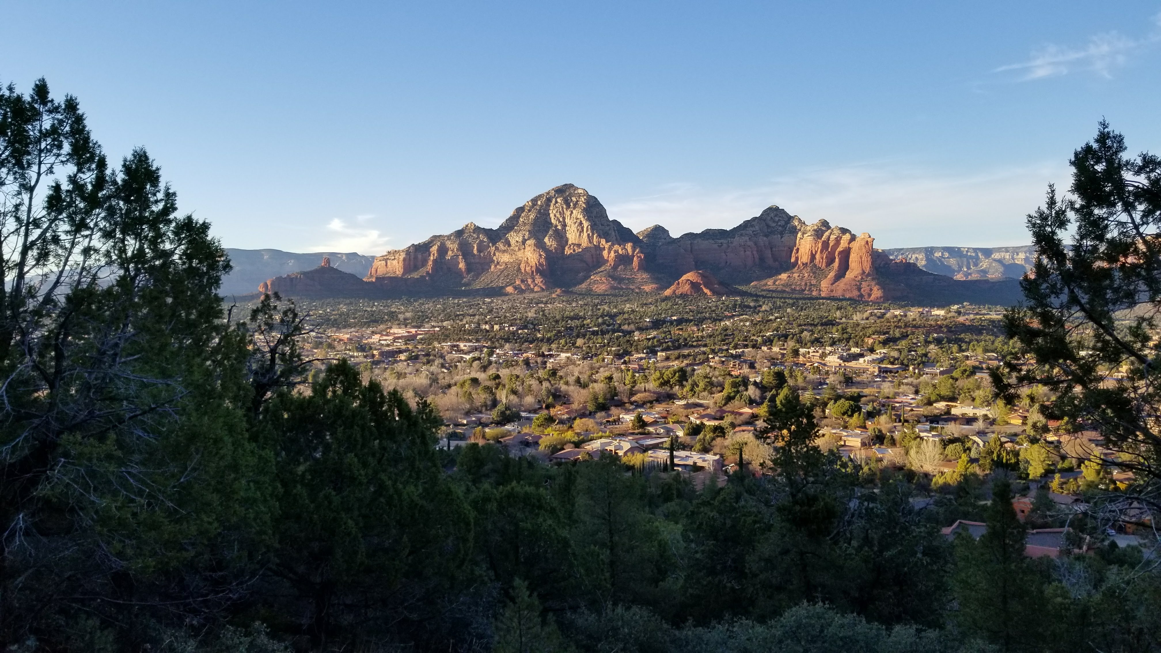
[[[0,647],[212,618],[271,498],[235,408],[225,252],[144,150],[110,167],[43,79],[0,92]]]

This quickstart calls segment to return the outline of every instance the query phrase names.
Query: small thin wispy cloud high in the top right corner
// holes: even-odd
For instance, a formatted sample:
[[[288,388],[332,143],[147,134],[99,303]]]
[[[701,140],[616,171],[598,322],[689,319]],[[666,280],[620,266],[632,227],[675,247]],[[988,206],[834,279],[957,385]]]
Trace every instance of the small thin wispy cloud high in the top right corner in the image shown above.
[[[1130,56],[1161,41],[1161,13],[1153,16],[1155,29],[1145,37],[1130,38],[1116,31],[1097,34],[1081,48],[1047,44],[1032,51],[1025,62],[995,69],[995,73],[1015,73],[1017,81],[1032,81],[1088,71],[1111,78],[1112,71],[1125,65]]]

